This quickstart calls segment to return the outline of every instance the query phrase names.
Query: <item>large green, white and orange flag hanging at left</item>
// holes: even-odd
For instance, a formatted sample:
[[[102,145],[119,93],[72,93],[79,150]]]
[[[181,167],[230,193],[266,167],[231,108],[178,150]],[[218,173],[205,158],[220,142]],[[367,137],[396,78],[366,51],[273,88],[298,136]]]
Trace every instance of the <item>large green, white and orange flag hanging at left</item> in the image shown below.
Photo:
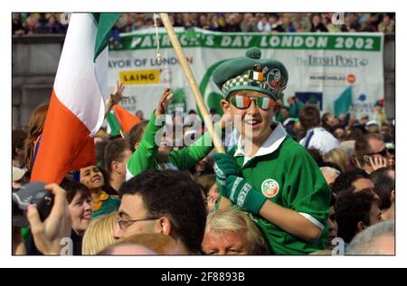
[[[109,30],[120,14],[72,14],[32,181],[60,183],[96,162],[93,136],[105,113]]]

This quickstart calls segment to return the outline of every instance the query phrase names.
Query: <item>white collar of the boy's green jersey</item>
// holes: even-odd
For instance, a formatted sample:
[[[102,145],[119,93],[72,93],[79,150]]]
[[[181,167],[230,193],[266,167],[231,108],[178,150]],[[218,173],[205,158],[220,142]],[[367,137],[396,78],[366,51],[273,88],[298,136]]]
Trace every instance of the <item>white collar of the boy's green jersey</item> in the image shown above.
[[[279,123],[277,125],[274,125],[274,130],[271,132],[269,137],[266,139],[266,141],[260,146],[260,149],[254,154],[253,157],[249,157],[246,152],[244,152],[242,143],[241,143],[241,136],[239,136],[239,141],[237,144],[237,150],[234,152],[234,157],[238,156],[243,156],[244,157],[244,162],[243,166],[252,158],[263,156],[270,154],[274,151],[276,151],[279,148],[279,145],[284,141],[284,139],[287,136],[287,132],[284,129],[284,127]]]

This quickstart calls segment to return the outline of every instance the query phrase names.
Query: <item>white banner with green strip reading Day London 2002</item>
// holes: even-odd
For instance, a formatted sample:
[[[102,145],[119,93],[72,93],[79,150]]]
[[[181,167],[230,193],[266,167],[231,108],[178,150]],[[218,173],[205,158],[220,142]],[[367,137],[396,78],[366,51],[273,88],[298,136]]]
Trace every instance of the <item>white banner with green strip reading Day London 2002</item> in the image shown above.
[[[220,111],[221,91],[212,82],[213,69],[222,60],[244,56],[257,46],[261,59],[274,58],[289,71],[287,98],[316,103],[322,112],[335,114],[334,102],[351,93],[350,112],[374,115],[374,103],[384,97],[382,33],[241,33],[175,29],[195,80],[209,108]],[[121,35],[121,45],[109,51],[109,88],[117,79],[129,96],[122,105],[148,118],[166,87],[175,93],[175,106],[197,110],[191,89],[175,52],[161,28],[161,62],[156,59],[154,29]],[[351,87],[351,88],[349,88]],[[350,98],[350,97],[349,97]]]

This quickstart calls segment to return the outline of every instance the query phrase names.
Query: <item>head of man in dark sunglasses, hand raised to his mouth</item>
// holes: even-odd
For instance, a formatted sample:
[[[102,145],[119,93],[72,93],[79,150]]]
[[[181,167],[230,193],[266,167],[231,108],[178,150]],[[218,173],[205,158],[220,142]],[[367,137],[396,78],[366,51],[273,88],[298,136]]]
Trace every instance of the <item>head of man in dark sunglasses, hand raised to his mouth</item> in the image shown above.
[[[381,134],[364,134],[357,138],[355,154],[359,168],[368,174],[388,165],[389,152]]]

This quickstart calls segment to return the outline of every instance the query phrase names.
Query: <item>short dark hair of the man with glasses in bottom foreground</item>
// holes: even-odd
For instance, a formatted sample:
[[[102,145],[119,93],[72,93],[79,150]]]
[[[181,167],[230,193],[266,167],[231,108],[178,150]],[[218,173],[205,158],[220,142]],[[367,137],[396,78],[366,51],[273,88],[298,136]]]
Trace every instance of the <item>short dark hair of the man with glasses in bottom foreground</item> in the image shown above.
[[[123,183],[118,195],[139,195],[147,216],[168,217],[189,251],[200,253],[206,208],[201,188],[190,176],[182,171],[145,171]]]

